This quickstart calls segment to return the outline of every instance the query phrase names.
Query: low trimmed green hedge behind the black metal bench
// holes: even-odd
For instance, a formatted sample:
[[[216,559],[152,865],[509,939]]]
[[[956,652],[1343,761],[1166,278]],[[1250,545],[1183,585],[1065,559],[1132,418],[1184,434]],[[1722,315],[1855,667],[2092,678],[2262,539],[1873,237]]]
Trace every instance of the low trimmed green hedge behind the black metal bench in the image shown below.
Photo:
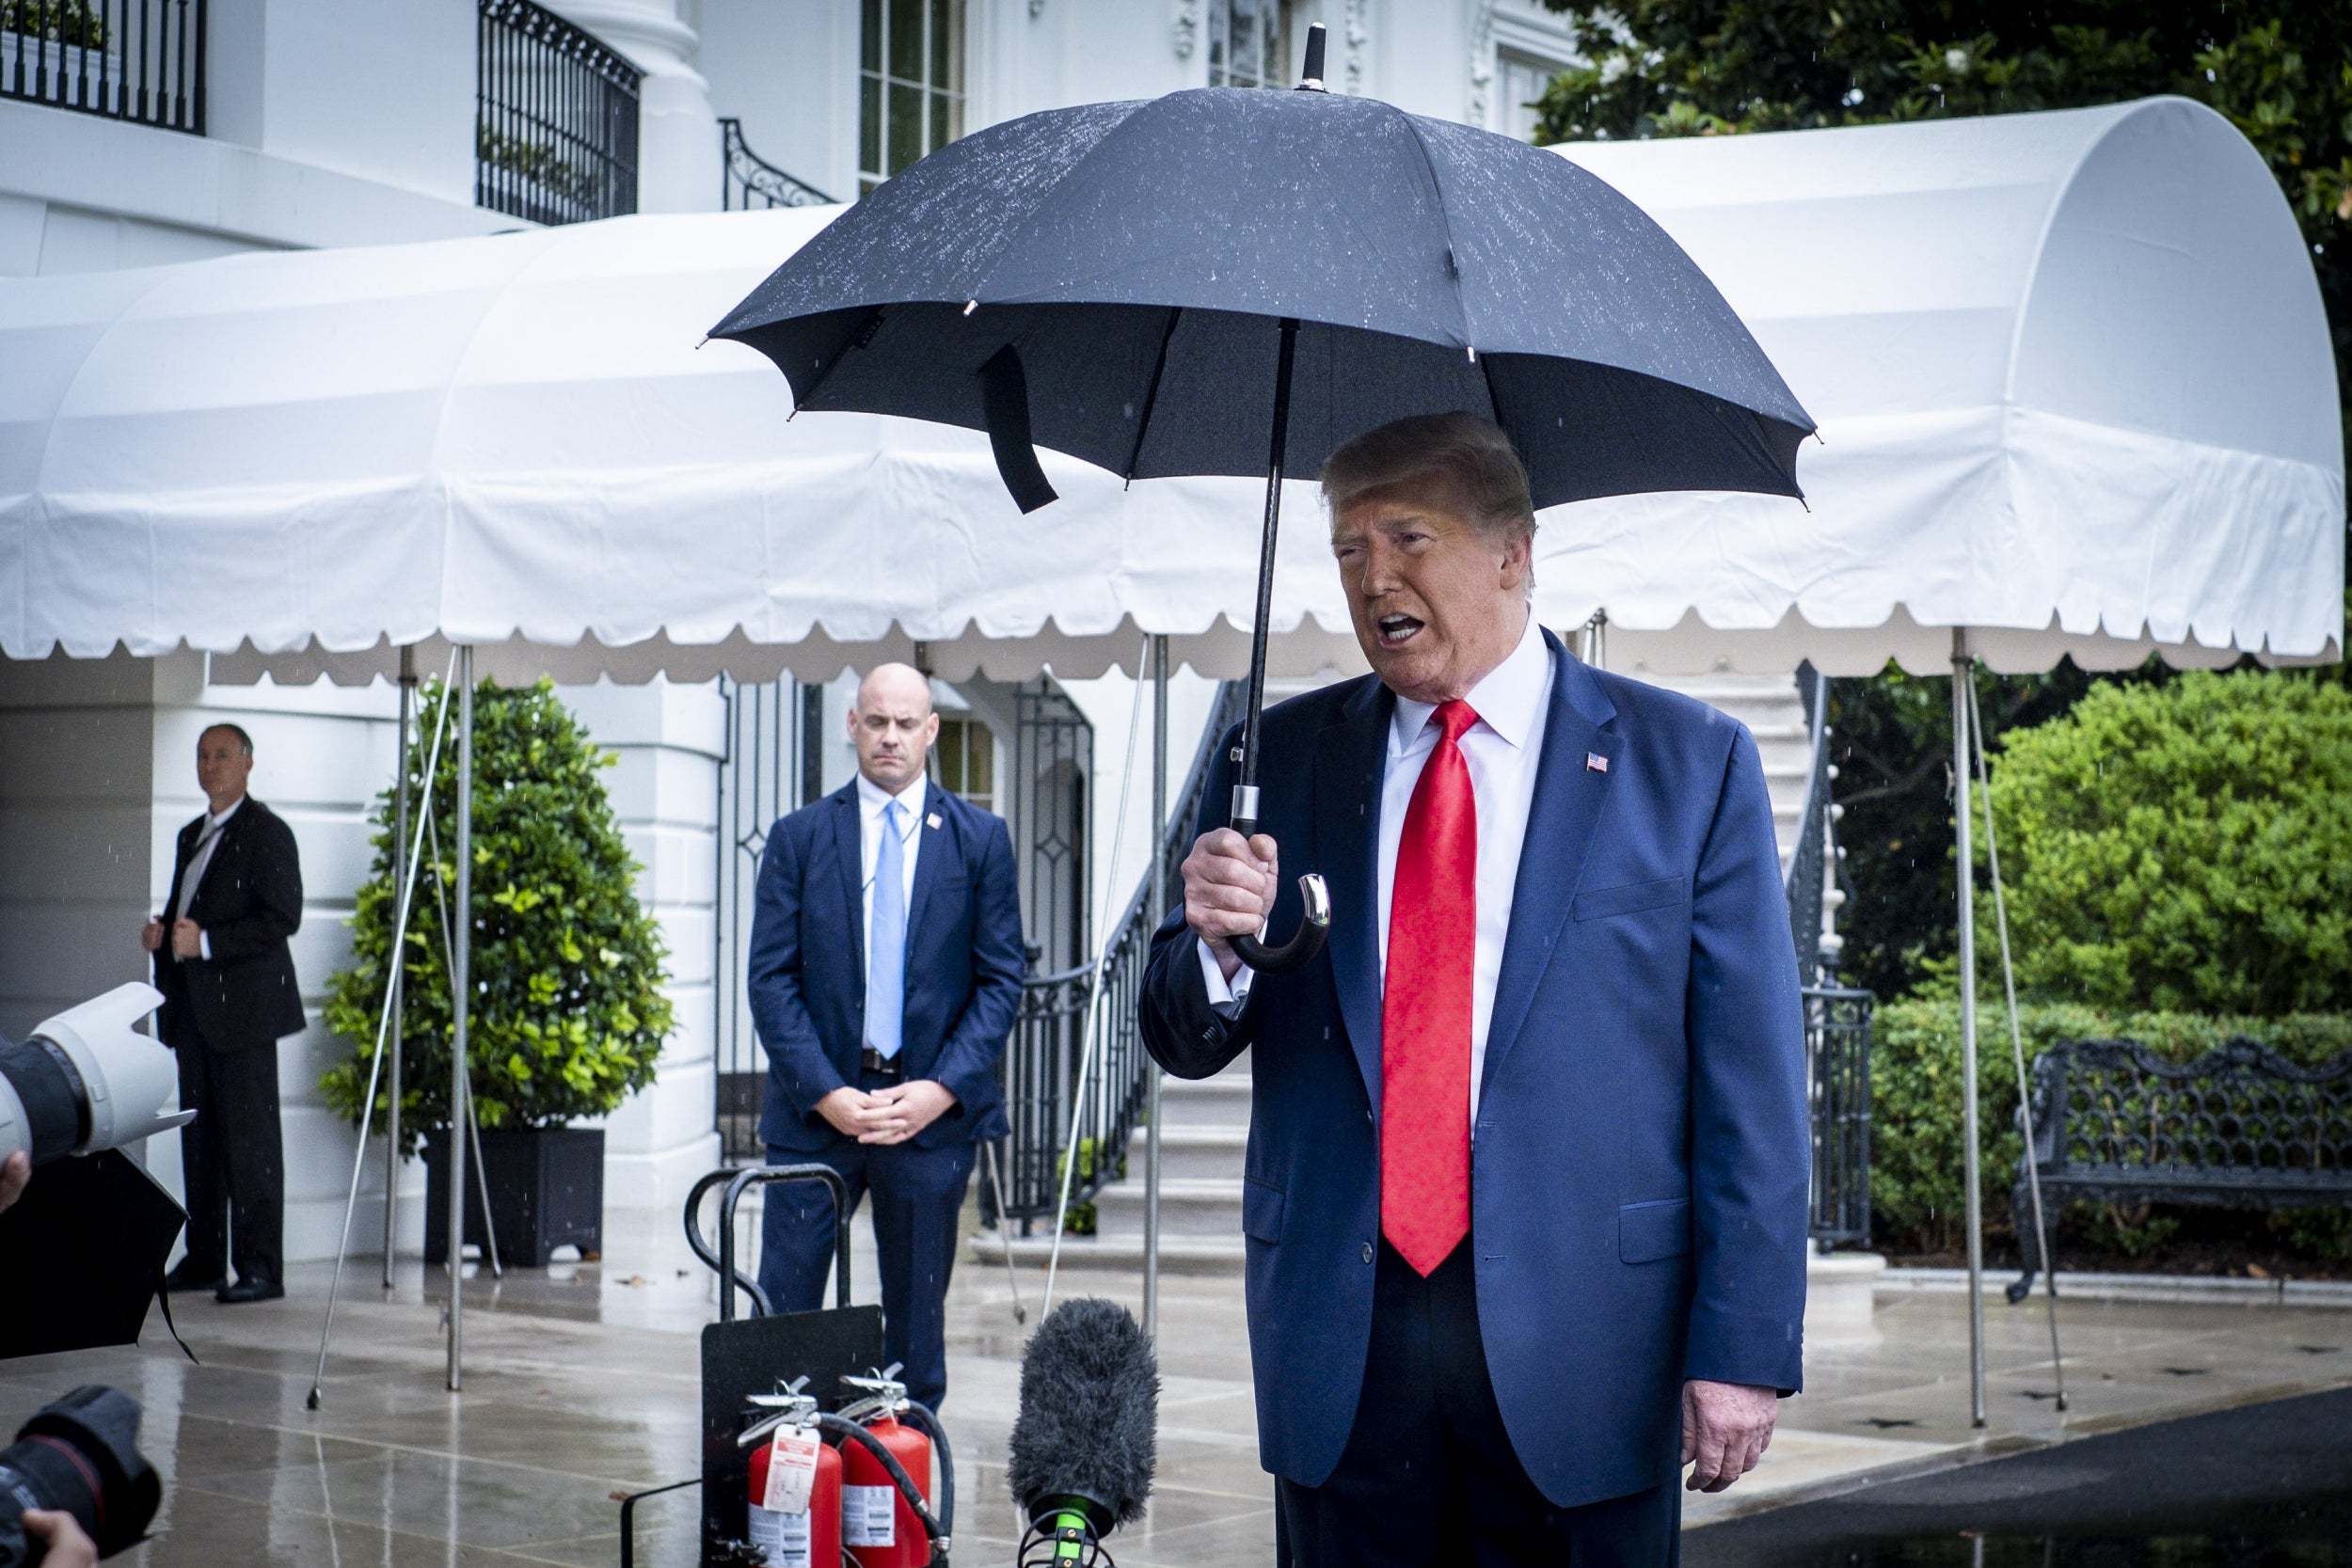
[[[1985,1168],[1985,1220],[1997,1229],[2018,1168],[2018,1074],[2011,1067],[2009,1013],[1999,992],[1978,1004],[1978,1095]],[[2060,1039],[2138,1039],[2171,1060],[2192,1060],[2232,1034],[2263,1041],[2291,1063],[2312,1065],[2352,1051],[2352,1016],[2209,1018],[2194,1013],[2110,1013],[2074,1004],[2025,1004],[2018,1032],[2032,1063]],[[1950,1251],[1964,1237],[1959,1126],[1959,1001],[1882,1001],[1870,1046],[1870,1206],[1879,1244],[1900,1251]],[[2343,1225],[2312,1211],[2279,1215],[2281,1232],[2314,1255]],[[2122,1215],[2129,1225],[2131,1215]],[[2140,1220],[2145,1225],[2145,1218]],[[2110,1218],[2112,1225],[2112,1218]],[[2114,1237],[2107,1237],[2114,1241]]]

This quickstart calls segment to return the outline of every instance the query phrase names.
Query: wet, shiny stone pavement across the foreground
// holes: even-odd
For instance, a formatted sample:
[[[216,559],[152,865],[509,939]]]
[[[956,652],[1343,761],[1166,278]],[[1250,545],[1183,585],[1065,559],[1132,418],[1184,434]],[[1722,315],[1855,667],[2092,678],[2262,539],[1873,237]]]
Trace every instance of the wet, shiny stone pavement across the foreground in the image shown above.
[[[861,1246],[858,1300],[875,1300],[870,1255]],[[346,1279],[336,1354],[322,1408],[313,1413],[303,1399],[325,1274],[325,1267],[294,1269],[285,1302],[219,1307],[209,1298],[179,1298],[181,1331],[202,1366],[179,1354],[160,1321],[151,1321],[134,1349],[0,1361],[0,1432],[78,1382],[115,1382],[141,1399],[143,1446],[165,1474],[167,1500],[158,1537],[118,1561],[155,1568],[614,1563],[614,1495],[694,1472],[696,1333],[715,1314],[715,1286],[666,1225],[616,1222],[600,1265],[517,1272],[503,1284],[470,1279],[463,1394],[442,1389],[440,1272],[428,1298],[423,1267],[405,1262],[400,1284],[386,1293],[374,1260],[360,1260]],[[1023,1269],[1021,1288],[1035,1321],[1042,1274]],[[1063,1274],[1061,1291],[1134,1305],[1138,1281],[1117,1272]],[[2312,1448],[2310,1432],[2324,1432],[2326,1422],[2288,1420],[2288,1406],[2265,1401],[2352,1389],[2352,1312],[2067,1302],[2074,1399],[2063,1415],[2049,1396],[2039,1312],[2006,1309],[1994,1298],[1987,1326],[1992,1422],[1973,1432],[1964,1300],[1933,1291],[1882,1298],[1877,1342],[1816,1352],[1809,1392],[1783,1406],[1764,1467],[1731,1493],[1691,1500],[1684,1540],[1693,1554],[1717,1549],[1705,1542],[1731,1542],[1731,1530],[1856,1519],[1870,1523],[1839,1523],[1844,1535],[1776,1535],[1771,1549],[1795,1556],[1773,1561],[1973,1563],[1978,1552],[1987,1563],[2352,1561],[2310,1556],[2305,1547],[2279,1547],[2286,1556],[2194,1556],[2201,1547],[2183,1547],[2190,1556],[2103,1556],[2107,1547],[2079,1533],[2049,1535],[2056,1526],[2039,1514],[1985,1512],[1999,1497],[1933,1490],[1978,1476],[1999,1490],[2011,1486],[1999,1476],[2023,1474],[2013,1465],[2039,1465],[2042,1479],[2023,1483],[2027,1497],[2060,1512],[2096,1505],[2124,1495],[2117,1488],[2145,1469],[2100,1458],[2100,1443],[2199,1413],[2244,1422],[2230,1432],[2277,1427],[2286,1434],[2284,1453],[2296,1453],[2298,1441]],[[967,1566],[1014,1559],[1018,1521],[1004,1500],[1002,1460],[1018,1352],[1002,1267],[964,1262],[950,1300],[946,1420],[962,1500],[955,1556]],[[1272,1486],[1256,1462],[1240,1281],[1167,1276],[1160,1361],[1160,1483],[1150,1516],[1112,1537],[1120,1563],[1270,1561]],[[2281,1413],[2279,1422],[2272,1413]],[[2352,1415],[2336,1427],[2338,1448],[2352,1443]],[[2185,1429],[2176,1422],[2154,1432]],[[2171,1474],[2194,1472],[2211,1462],[2213,1441],[2220,1439],[2166,1448],[2161,1465]],[[2049,1476],[2074,1479],[2058,1486]],[[1900,1486],[1929,1488],[1917,1493],[1919,1507],[1945,1512],[1886,1512],[1886,1497],[1915,1495]],[[2340,1490],[2352,1490],[2352,1481]],[[2303,1507],[2300,1493],[2265,1497],[2263,1507]],[[694,1490],[644,1502],[637,1561],[691,1563],[696,1512]],[[1955,1523],[1966,1519],[1985,1523]],[[1999,1523],[2009,1519],[2025,1523]],[[1959,1535],[1964,1528],[1994,1533],[1969,1540]],[[2312,1526],[2324,1528],[2333,1528],[2328,1519]],[[2286,1523],[2277,1530],[2291,1535]],[[1863,1537],[1867,1547],[1839,1544]],[[1755,1542],[1762,1552],[1762,1537]]]

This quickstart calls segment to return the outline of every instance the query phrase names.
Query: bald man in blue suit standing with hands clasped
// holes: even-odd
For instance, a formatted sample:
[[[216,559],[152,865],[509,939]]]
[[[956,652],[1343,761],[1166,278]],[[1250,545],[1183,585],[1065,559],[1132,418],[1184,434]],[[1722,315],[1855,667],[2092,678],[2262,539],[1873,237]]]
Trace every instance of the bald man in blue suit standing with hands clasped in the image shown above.
[[[931,682],[882,665],[849,715],[858,776],[779,820],[760,853],[750,1013],[767,1046],[769,1164],[870,1190],[882,1338],[908,1394],[948,1392],[946,1295],[974,1143],[1002,1138],[997,1058],[1021,1004],[1021,893],[1004,820],[924,778]],[[833,1201],[767,1187],[760,1288],[823,1305]]]

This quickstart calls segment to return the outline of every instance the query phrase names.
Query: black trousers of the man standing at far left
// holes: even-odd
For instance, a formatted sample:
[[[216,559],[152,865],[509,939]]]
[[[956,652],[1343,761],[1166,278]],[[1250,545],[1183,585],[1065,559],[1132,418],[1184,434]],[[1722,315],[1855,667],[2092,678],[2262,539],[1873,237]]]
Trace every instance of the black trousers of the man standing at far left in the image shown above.
[[[278,1048],[214,1051],[179,1041],[179,1128],[188,1185],[188,1272],[285,1279],[287,1161],[278,1128]]]

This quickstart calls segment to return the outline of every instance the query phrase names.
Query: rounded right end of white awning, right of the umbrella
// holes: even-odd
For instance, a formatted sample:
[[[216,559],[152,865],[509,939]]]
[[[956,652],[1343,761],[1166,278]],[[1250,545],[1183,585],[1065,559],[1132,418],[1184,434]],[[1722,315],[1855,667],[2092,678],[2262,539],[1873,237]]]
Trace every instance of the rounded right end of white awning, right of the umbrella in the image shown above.
[[[1705,268],[1820,421],[1809,510],[1543,520],[1538,602],[1611,663],[1837,675],[2161,651],[2333,658],[2343,423],[2263,158],[2187,99],[1559,148]]]

